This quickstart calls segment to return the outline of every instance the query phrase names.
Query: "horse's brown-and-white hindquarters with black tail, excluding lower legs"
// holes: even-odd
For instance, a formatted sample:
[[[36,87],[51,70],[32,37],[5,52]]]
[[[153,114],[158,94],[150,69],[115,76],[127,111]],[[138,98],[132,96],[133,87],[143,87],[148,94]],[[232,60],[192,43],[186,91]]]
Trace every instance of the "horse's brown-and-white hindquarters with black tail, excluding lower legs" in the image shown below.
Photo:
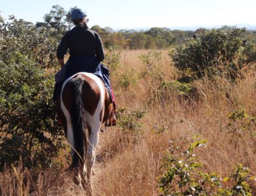
[[[79,72],[65,80],[60,94],[58,114],[72,146],[73,162],[68,171],[83,165],[88,135],[99,131],[112,110],[104,83],[94,74]],[[88,129],[88,135],[86,134]]]

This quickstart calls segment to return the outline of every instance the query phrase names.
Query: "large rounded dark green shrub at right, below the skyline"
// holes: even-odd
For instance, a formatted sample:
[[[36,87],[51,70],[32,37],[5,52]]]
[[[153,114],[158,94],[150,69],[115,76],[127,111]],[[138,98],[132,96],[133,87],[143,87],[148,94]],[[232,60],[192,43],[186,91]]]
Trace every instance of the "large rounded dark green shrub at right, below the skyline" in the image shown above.
[[[196,38],[186,40],[184,45],[177,45],[170,52],[175,67],[183,71],[192,72],[192,77],[201,78],[205,74],[225,75],[237,78],[242,66],[238,61],[242,49],[242,33],[245,29],[228,28],[212,29]],[[255,61],[253,45],[247,46],[242,53],[246,62]],[[233,79],[232,78],[232,79]]]

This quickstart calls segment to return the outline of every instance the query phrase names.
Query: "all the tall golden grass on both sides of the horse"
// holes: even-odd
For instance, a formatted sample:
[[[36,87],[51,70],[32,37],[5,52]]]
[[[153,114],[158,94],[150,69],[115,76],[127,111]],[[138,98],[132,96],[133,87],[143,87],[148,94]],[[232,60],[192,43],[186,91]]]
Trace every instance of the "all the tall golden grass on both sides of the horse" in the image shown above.
[[[110,127],[100,135],[97,162],[94,166],[94,195],[159,195],[157,177],[160,175],[161,158],[164,151],[175,144],[181,148],[194,135],[207,140],[207,146],[197,155],[203,163],[203,171],[228,176],[238,163],[251,169],[256,176],[256,138],[244,131],[235,137],[229,133],[229,113],[235,109],[246,109],[256,115],[255,69],[245,73],[237,83],[220,80],[198,80],[193,83],[199,94],[198,100],[186,102],[176,94],[164,104],[147,105],[149,81],[138,81],[124,91],[118,85],[118,74],[129,69],[139,73],[144,65],[138,56],[147,50],[127,50],[122,54],[122,67],[111,75],[118,107],[146,110],[142,118],[142,131],[120,130]],[[255,66],[255,65],[254,65]],[[175,80],[177,71],[172,61],[162,52],[162,72],[166,80]],[[255,127],[253,127],[255,129]],[[163,130],[157,133],[157,130]],[[21,182],[25,179],[25,182]],[[83,195],[75,188],[64,172],[42,171],[38,175],[18,168],[0,173],[0,195]],[[254,194],[256,186],[251,184]]]

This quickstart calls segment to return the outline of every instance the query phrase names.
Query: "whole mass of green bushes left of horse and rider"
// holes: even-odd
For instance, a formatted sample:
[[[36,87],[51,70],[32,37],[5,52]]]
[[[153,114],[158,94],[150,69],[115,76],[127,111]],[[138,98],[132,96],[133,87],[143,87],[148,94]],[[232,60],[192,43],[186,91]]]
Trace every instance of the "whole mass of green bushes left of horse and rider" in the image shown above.
[[[0,16],[0,171],[20,160],[27,168],[60,166],[64,134],[51,101],[54,78],[45,69],[58,65],[53,32]]]

